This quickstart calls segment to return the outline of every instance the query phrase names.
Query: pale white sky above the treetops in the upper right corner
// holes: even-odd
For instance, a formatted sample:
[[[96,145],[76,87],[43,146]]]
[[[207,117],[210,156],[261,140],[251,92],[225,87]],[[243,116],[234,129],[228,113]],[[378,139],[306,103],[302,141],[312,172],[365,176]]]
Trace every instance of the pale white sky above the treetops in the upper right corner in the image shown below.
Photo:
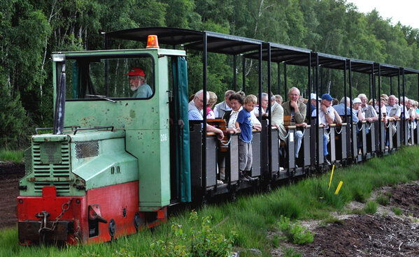
[[[381,17],[391,18],[392,24],[400,22],[419,29],[417,0],[348,0],[348,3],[355,3],[361,13],[369,13],[376,8]]]

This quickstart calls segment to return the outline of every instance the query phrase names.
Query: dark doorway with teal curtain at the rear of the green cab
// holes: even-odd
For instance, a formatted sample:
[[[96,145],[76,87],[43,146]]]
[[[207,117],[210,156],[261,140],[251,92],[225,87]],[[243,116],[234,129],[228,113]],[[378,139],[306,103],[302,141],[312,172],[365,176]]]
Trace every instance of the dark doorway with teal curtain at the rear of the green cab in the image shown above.
[[[171,199],[190,202],[189,120],[187,65],[184,57],[171,58],[173,98],[170,101]]]

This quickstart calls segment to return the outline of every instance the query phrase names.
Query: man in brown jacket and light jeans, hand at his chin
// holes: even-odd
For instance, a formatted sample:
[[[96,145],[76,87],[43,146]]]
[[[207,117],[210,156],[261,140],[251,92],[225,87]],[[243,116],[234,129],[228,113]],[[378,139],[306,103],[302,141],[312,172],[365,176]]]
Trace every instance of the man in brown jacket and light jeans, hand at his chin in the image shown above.
[[[286,101],[282,105],[284,109],[284,118],[289,117],[291,125],[305,128],[307,126],[307,124],[304,122],[304,119],[306,119],[306,105],[298,101],[299,96],[299,89],[297,89],[297,87],[291,87],[288,91],[288,98],[290,98],[290,101]],[[303,140],[302,131],[295,131],[295,138],[295,158],[298,158],[299,149],[301,148],[301,141]]]

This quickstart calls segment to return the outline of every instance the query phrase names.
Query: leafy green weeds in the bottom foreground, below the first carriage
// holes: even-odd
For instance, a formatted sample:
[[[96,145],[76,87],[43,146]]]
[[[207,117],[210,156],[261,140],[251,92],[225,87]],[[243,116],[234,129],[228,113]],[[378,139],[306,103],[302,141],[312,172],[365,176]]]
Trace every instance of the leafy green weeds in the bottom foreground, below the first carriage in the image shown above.
[[[150,244],[152,256],[229,256],[232,251],[235,232],[226,237],[215,232],[211,227],[211,216],[206,216],[199,222],[195,211],[190,213],[190,234],[183,233],[180,224],[171,225],[171,233],[166,240],[157,240]]]

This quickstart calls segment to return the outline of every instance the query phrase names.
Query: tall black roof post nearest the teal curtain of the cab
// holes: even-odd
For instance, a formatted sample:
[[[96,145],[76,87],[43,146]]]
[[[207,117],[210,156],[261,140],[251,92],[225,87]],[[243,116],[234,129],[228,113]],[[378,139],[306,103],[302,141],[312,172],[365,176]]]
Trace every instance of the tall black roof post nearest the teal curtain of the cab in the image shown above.
[[[202,187],[204,196],[206,194],[206,66],[207,66],[207,34],[204,33],[204,37],[202,38],[202,89],[203,92],[203,100],[204,100],[204,107],[203,107],[203,119],[204,119],[204,126],[202,126]]]

